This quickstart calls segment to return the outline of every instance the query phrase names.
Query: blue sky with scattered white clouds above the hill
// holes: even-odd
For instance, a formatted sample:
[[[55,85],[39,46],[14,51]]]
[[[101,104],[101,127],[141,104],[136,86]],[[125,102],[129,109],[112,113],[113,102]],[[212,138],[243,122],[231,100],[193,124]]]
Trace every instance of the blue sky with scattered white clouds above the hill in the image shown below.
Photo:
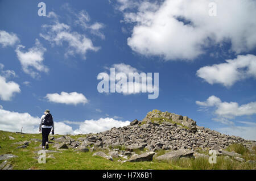
[[[39,2],[0,1],[0,129],[37,132],[49,109],[59,133],[97,132],[158,109],[256,140],[255,1]],[[159,73],[158,98],[98,92],[113,67]]]

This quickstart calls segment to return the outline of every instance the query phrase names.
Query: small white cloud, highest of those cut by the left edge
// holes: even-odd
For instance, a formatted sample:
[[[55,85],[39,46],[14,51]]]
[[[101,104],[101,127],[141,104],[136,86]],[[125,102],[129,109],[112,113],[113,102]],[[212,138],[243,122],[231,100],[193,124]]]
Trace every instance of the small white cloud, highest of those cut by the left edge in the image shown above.
[[[15,33],[0,30],[0,44],[2,44],[2,47],[13,46],[18,42],[19,38]]]

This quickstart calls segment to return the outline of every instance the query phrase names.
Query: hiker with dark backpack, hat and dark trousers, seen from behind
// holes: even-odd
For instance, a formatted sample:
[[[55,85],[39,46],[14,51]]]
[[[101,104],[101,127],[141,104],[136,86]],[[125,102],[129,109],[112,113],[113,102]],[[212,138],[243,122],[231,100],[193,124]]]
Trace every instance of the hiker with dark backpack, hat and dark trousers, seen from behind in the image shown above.
[[[52,134],[54,134],[54,122],[51,113],[49,110],[44,111],[44,115],[41,117],[39,132],[41,132],[42,128],[42,149],[49,148],[48,145],[48,136],[52,129]]]

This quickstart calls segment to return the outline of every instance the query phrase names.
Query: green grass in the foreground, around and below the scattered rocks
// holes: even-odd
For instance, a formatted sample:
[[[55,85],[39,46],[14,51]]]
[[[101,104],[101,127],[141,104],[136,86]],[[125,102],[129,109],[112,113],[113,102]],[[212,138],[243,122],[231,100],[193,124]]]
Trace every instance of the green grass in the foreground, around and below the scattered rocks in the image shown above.
[[[11,140],[9,136],[13,137]],[[55,135],[55,138],[61,137]],[[77,139],[79,136],[70,136]],[[255,163],[238,162],[236,160],[226,160],[224,156],[217,157],[216,164],[210,164],[207,158],[184,158],[177,161],[163,162],[153,159],[151,162],[125,162],[118,161],[120,158],[114,158],[109,161],[101,157],[93,157],[92,152],[76,153],[73,149],[61,149],[61,153],[47,153],[46,164],[38,163],[38,151],[40,150],[39,141],[31,139],[41,139],[41,134],[20,134],[13,132],[0,131],[0,155],[13,154],[17,158],[8,159],[8,162],[13,166],[13,169],[255,169]],[[27,148],[17,148],[21,144],[16,142],[31,141]],[[49,145],[50,150],[56,150]],[[254,155],[241,145],[232,145],[228,148],[229,151],[236,151],[243,155],[243,158],[248,160],[256,160],[255,149]],[[143,150],[146,151],[146,150]],[[108,151],[106,151],[108,153]],[[138,151],[137,151],[138,153]],[[158,155],[164,154],[164,150],[160,150]],[[122,159],[125,160],[125,159]],[[3,161],[0,161],[0,165]]]

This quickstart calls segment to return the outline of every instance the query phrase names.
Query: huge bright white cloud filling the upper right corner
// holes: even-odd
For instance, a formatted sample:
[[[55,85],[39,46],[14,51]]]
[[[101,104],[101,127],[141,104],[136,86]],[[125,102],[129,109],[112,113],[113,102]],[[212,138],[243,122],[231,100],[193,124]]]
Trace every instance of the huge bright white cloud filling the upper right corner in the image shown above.
[[[193,60],[224,42],[230,42],[230,50],[237,54],[256,45],[253,0],[215,0],[216,16],[209,16],[210,0],[118,2],[123,21],[134,25],[127,44],[145,56]]]

